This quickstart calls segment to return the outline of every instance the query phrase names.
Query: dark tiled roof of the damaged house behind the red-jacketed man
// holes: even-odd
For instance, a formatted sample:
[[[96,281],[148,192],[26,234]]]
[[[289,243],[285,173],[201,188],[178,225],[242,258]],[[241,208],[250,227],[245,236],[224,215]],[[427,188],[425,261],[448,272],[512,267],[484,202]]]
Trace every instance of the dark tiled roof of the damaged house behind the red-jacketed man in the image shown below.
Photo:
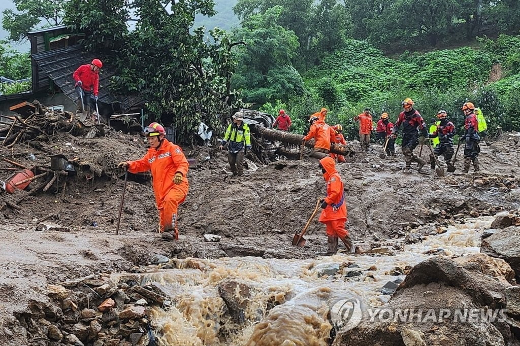
[[[72,74],[80,65],[96,58],[92,53],[82,52],[79,45],[33,54],[31,57],[73,102],[76,101],[77,94],[74,90],[75,82]],[[123,110],[143,103],[144,100],[139,97],[116,97],[109,92],[110,77],[114,73],[115,69],[112,66],[103,64],[99,74],[99,101],[107,104],[120,103]]]

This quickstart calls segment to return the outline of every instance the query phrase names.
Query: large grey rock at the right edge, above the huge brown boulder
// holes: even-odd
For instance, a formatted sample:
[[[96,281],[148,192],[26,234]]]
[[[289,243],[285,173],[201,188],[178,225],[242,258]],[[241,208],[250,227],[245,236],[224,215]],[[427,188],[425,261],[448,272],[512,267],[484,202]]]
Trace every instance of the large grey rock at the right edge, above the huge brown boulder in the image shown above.
[[[508,262],[520,280],[520,227],[509,227],[483,239],[480,252]]]

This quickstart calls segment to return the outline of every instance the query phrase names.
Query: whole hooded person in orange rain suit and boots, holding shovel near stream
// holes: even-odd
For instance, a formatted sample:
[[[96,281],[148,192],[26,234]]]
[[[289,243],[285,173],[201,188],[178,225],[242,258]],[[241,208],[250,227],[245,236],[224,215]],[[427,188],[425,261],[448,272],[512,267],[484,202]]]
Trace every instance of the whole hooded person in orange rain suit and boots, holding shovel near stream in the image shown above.
[[[318,165],[327,181],[327,196],[321,199],[321,215],[319,221],[325,224],[327,230],[328,250],[326,255],[334,255],[337,252],[338,239],[341,239],[347,249],[352,248],[352,241],[345,229],[347,221],[347,206],[345,204],[345,193],[343,191],[343,180],[336,170],[334,159],[327,156],[320,159]]]

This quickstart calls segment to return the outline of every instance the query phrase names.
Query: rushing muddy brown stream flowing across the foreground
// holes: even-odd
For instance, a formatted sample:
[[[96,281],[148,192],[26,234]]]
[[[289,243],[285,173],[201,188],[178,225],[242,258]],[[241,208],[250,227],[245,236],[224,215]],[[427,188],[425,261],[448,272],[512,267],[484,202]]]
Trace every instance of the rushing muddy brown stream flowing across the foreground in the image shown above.
[[[431,256],[478,253],[480,236],[493,219],[467,219],[415,244],[399,241],[402,250],[394,255],[172,259],[163,265],[171,269],[132,276],[141,284],[158,285],[173,298],[170,307],[153,308],[152,324],[161,345],[327,345],[334,302],[356,297],[367,307],[383,305],[391,296],[382,287],[402,281],[415,264]]]

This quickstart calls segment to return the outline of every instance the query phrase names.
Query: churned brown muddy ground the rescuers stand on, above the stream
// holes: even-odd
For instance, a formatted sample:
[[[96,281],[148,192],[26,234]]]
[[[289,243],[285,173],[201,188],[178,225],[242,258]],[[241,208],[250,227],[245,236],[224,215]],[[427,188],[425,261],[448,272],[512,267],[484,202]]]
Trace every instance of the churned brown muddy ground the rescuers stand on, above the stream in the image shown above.
[[[47,299],[47,284],[103,271],[132,271],[149,264],[157,253],[168,257],[219,258],[259,256],[264,258],[313,258],[326,250],[324,227],[311,223],[304,248],[291,246],[295,232],[305,225],[325,185],[314,159],[278,161],[248,170],[241,179],[224,172],[225,152],[190,169],[190,191],[180,208],[180,239],[162,242],[157,233],[157,215],[150,177],[129,175],[121,229],[115,225],[123,189],[120,161],[137,159],[146,151],[138,135],[123,134],[108,127],[104,135],[86,139],[68,133],[35,143],[22,142],[0,149],[0,157],[25,166],[50,167],[48,155],[77,157],[77,175],[61,179],[46,193],[16,203],[25,191],[0,194],[0,342],[26,344],[24,330],[14,313],[30,299]],[[100,135],[98,135],[100,136]],[[461,215],[493,215],[518,207],[520,153],[518,134],[503,134],[492,145],[482,146],[482,172],[462,175],[462,151],[458,170],[439,178],[425,167],[423,174],[402,174],[404,161],[379,157],[379,148],[357,153],[339,165],[345,182],[348,228],[356,243],[378,247],[388,239],[405,237],[429,221],[439,224],[462,221]],[[188,158],[202,161],[209,148],[184,148]],[[427,156],[423,150],[423,157]],[[33,157],[31,156],[34,155]],[[0,167],[12,167],[0,162]],[[2,180],[9,176],[1,171]],[[64,187],[65,181],[67,182]],[[33,182],[31,185],[36,184]],[[476,213],[476,214],[475,214]],[[37,231],[37,221],[69,228],[67,232]],[[94,227],[94,224],[97,224]],[[432,230],[433,231],[433,230]],[[203,235],[222,236],[219,242],[204,242]]]

